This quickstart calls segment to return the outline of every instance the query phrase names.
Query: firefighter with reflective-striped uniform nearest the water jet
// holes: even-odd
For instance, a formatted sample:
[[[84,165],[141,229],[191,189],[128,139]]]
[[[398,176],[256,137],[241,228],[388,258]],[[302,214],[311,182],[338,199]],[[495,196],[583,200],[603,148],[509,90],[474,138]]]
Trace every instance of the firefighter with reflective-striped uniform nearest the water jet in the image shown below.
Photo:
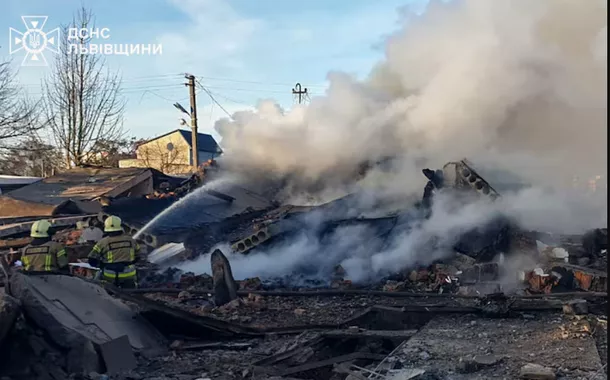
[[[123,232],[121,219],[109,216],[104,222],[104,237],[89,253],[89,264],[101,269],[103,281],[121,288],[135,288],[137,278],[134,264],[139,250],[138,243]]]

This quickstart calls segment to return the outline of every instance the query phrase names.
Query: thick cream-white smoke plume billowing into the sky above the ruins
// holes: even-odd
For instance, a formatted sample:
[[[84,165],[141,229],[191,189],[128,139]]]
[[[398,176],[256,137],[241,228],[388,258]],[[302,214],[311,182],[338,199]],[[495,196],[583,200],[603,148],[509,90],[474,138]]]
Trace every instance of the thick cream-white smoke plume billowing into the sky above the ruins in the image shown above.
[[[262,101],[218,121],[227,164],[309,192],[385,157],[403,192],[420,192],[422,165],[463,157],[554,187],[606,172],[605,1],[432,1],[402,16],[367,80],[332,72],[307,107]]]

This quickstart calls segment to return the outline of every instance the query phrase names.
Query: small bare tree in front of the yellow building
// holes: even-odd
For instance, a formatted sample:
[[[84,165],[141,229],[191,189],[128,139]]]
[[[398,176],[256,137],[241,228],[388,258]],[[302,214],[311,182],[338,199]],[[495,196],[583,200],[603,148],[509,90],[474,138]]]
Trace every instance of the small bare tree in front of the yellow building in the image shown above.
[[[138,159],[149,167],[155,168],[163,173],[177,173],[186,167],[190,168],[185,152],[179,147],[172,146],[168,150],[166,145],[159,141],[148,144],[140,144],[138,147]]]

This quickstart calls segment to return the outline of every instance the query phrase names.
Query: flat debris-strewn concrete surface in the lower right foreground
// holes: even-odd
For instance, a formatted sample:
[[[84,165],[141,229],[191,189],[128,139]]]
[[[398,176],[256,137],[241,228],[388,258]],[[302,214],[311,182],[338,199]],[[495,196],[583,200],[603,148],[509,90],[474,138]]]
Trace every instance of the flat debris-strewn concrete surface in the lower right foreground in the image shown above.
[[[591,376],[601,368],[601,361],[595,341],[581,330],[557,315],[539,315],[534,320],[437,317],[413,336],[394,360],[406,368],[436,372],[441,378],[461,372],[452,376],[456,380],[518,378],[521,367],[534,359],[566,375]],[[489,365],[463,373],[464,364],[460,363],[474,362],[481,355],[502,360],[488,360]]]

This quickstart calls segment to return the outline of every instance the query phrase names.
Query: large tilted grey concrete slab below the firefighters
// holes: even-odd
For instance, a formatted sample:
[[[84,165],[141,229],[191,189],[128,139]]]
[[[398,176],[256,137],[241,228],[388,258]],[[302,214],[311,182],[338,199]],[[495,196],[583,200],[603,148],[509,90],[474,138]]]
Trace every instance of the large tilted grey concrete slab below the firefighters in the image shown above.
[[[136,350],[163,350],[155,328],[101,286],[78,277],[15,273],[11,293],[26,316],[65,348],[86,340],[101,345],[126,335]]]

